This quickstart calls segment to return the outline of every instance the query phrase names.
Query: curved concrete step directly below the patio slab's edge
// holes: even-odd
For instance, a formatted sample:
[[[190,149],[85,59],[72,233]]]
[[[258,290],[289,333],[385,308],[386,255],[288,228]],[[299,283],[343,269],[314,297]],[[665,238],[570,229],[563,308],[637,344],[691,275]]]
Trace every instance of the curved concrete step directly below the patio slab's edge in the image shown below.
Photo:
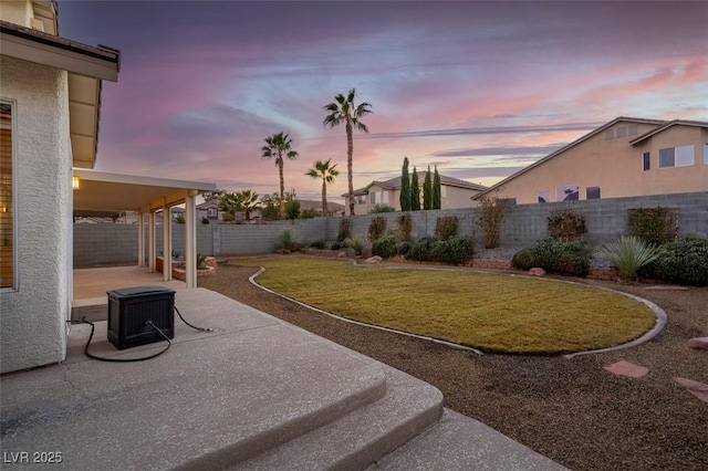
[[[444,410],[440,391],[382,366],[384,398],[229,469],[362,470],[435,425]]]

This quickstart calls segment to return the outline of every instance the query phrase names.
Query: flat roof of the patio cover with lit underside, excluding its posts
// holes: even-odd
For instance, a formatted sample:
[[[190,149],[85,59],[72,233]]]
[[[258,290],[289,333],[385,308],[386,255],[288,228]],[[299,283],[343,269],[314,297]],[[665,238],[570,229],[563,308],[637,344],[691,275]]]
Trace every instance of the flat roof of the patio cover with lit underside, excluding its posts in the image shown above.
[[[185,202],[189,196],[215,191],[215,184],[108,174],[74,168],[79,188],[75,211],[154,211]]]

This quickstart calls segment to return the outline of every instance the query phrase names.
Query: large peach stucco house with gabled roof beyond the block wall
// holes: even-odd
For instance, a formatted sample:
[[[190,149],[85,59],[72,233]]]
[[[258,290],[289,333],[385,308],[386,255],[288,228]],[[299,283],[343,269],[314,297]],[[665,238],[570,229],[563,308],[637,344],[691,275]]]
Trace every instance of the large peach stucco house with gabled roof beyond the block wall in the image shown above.
[[[708,190],[708,123],[618,117],[478,195],[518,205]]]

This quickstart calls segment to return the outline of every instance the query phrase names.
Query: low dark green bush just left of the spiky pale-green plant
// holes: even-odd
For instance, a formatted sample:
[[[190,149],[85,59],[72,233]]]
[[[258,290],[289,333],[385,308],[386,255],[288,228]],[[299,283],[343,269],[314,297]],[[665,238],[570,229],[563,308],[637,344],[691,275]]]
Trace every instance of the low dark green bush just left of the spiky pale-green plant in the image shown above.
[[[590,269],[590,251],[582,241],[560,242],[545,238],[514,253],[511,265],[521,270],[542,268],[550,273],[585,276]]]

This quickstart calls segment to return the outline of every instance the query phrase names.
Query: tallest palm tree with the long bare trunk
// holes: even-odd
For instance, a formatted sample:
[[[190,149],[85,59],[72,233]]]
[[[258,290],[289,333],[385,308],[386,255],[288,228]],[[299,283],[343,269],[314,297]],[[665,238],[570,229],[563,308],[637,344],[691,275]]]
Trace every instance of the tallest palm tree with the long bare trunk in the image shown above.
[[[330,126],[330,128],[333,128],[334,126],[339,126],[342,123],[345,124],[346,171],[348,174],[347,179],[350,184],[350,214],[351,216],[354,216],[354,179],[352,176],[354,139],[352,137],[352,133],[354,127],[356,127],[358,130],[362,130],[364,133],[368,133],[368,128],[360,119],[363,116],[366,116],[373,113],[371,111],[372,105],[366,102],[355,105],[354,104],[355,96],[356,96],[356,90],[352,88],[350,90],[350,93],[347,93],[346,96],[340,93],[334,96],[334,102],[322,107],[327,112],[327,116],[322,122],[324,126]]]

